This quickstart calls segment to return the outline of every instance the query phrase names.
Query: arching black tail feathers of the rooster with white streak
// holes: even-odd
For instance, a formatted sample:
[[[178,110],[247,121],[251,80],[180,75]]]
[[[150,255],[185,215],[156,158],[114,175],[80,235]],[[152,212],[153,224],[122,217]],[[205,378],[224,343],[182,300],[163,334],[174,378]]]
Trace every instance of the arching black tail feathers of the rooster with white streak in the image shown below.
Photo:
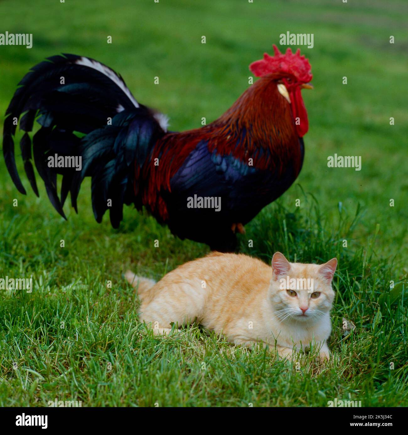
[[[123,202],[132,202],[132,162],[137,158],[142,165],[153,139],[164,134],[152,112],[138,104],[115,71],[73,54],[49,57],[33,67],[19,85],[7,108],[3,130],[4,160],[17,189],[26,194],[14,156],[18,124],[25,132],[20,149],[34,193],[38,196],[33,157],[51,203],[64,218],[62,207],[68,192],[77,210],[81,181],[91,176],[95,218],[101,221],[111,198],[111,222],[117,227]],[[41,127],[31,143],[28,133],[34,120]],[[82,170],[49,167],[48,157],[54,154],[81,156]],[[63,175],[61,198],[57,174]]]

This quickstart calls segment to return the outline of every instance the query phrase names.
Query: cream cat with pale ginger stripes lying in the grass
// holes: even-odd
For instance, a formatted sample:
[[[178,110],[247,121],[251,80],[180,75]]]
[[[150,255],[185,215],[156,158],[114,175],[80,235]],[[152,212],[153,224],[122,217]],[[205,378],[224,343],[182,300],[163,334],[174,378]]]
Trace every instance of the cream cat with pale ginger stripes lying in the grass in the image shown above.
[[[169,333],[170,322],[180,327],[197,321],[236,345],[276,345],[286,358],[313,345],[323,361],[329,359],[336,267],[336,258],[322,265],[289,263],[276,252],[271,268],[247,255],[213,252],[157,283],[131,271],[125,277],[142,301],[140,320],[151,323],[155,334]]]

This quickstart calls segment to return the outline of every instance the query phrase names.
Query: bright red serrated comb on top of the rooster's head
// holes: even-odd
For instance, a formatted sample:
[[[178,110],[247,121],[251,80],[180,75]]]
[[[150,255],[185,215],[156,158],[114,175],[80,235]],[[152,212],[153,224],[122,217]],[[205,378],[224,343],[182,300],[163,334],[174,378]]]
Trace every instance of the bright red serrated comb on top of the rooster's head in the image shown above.
[[[263,59],[256,60],[250,64],[250,70],[256,77],[262,77],[266,74],[290,74],[296,77],[298,82],[308,83],[312,80],[311,67],[309,61],[304,56],[300,56],[300,48],[293,54],[288,48],[285,54],[282,54],[278,47],[273,44],[275,56],[267,53],[263,54]]]

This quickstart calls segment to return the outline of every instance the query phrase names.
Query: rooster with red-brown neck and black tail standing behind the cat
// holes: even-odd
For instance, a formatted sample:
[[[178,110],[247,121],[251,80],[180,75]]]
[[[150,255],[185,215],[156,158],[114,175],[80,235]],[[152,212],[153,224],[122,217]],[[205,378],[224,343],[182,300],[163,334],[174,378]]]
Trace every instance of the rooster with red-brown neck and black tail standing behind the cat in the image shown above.
[[[109,209],[118,228],[123,204],[133,203],[179,238],[233,251],[236,233],[290,187],[303,164],[308,120],[300,90],[311,88],[310,64],[300,49],[273,50],[274,56],[265,53],[250,64],[260,79],[232,107],[211,124],[184,132],[168,131],[167,117],[135,100],[104,64],[73,54],[49,57],[20,81],[6,111],[3,155],[10,176],[26,194],[14,157],[18,124],[30,185],[38,196],[34,158],[62,217],[68,193],[78,213],[81,182],[91,177],[98,222]],[[34,121],[40,127],[31,139]],[[50,164],[54,156],[80,156],[81,170]]]

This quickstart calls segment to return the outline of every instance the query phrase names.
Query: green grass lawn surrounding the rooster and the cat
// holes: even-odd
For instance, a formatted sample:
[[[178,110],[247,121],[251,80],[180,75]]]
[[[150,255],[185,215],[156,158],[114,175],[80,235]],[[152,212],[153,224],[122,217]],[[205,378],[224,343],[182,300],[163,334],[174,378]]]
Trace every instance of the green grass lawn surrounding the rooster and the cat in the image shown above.
[[[240,250],[265,261],[277,250],[291,261],[336,256],[339,267],[327,365],[305,356],[297,369],[196,325],[153,337],[138,323],[137,297],[121,274],[132,268],[159,279],[208,248],[130,207],[118,230],[107,217],[97,224],[89,182],[79,215],[67,204],[64,221],[43,186],[39,199],[20,195],[0,158],[0,278],[35,282],[29,294],[0,291],[0,405],[58,398],[83,406],[327,406],[336,397],[407,405],[405,2],[14,3],[0,3],[0,32],[33,33],[34,45],[0,46],[1,113],[31,66],[71,52],[118,70],[138,101],[170,115],[172,129],[199,127],[246,89],[248,65],[271,52],[280,33],[314,33],[314,48],[302,49],[315,87],[303,91],[310,130],[302,172],[246,227]],[[334,153],[361,155],[361,171],[327,168]],[[343,317],[356,325],[346,337]]]

